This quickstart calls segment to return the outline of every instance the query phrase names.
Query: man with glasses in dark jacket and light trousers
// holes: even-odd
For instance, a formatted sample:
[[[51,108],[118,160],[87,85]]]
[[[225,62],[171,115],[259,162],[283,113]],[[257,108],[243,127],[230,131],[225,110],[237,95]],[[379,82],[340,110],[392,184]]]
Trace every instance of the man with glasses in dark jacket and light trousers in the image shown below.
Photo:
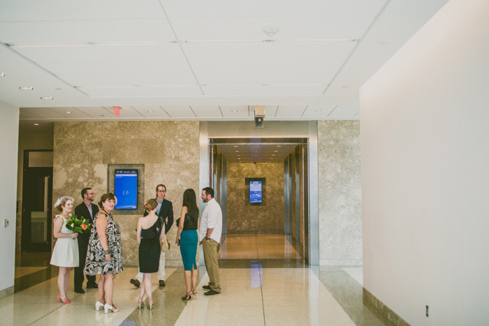
[[[159,184],[156,186],[156,201],[158,202],[158,209],[156,209],[156,215],[163,218],[163,223],[165,223],[165,234],[173,225],[173,205],[169,200],[165,199],[166,195],[166,186],[164,184]],[[158,269],[158,280],[159,286],[163,288],[165,286],[165,262],[166,262],[166,253],[161,253],[159,256],[159,269]],[[134,284],[136,288],[139,288],[141,282],[143,281],[143,273],[138,272],[135,279],[131,279],[131,284]]]

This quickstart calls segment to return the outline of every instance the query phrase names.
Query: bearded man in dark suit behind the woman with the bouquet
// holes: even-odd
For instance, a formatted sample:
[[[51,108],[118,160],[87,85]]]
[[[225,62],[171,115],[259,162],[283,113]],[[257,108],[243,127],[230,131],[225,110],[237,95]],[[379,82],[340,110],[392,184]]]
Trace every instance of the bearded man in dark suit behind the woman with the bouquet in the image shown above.
[[[98,206],[92,205],[92,202],[95,198],[95,193],[92,188],[83,188],[82,198],[83,202],[75,207],[75,215],[78,216],[78,218],[81,218],[83,216],[83,218],[90,220],[90,223],[93,223],[94,216],[98,213]],[[75,267],[75,292],[85,293],[85,291],[82,289],[83,281],[85,279],[83,275],[83,268],[85,267],[85,259],[87,259],[88,240],[90,239],[90,233],[78,233],[77,239],[80,265],[78,265],[78,267]],[[97,288],[97,283],[95,283],[95,276],[87,275],[87,289],[88,288]]]

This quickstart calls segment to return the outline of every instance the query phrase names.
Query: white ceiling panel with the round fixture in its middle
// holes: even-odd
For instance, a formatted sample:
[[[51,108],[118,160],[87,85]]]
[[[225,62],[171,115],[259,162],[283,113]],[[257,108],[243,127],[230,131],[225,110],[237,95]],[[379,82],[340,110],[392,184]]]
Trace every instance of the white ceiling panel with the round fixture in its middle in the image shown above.
[[[262,28],[280,28],[275,40],[356,39],[374,17],[194,17],[172,18],[179,40],[265,40]]]

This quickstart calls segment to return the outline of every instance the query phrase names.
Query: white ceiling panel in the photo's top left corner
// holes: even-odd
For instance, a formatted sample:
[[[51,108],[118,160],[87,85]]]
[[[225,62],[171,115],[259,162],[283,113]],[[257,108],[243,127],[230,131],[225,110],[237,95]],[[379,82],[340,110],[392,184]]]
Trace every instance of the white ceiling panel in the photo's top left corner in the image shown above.
[[[165,17],[158,1],[0,1],[0,21],[108,20]]]

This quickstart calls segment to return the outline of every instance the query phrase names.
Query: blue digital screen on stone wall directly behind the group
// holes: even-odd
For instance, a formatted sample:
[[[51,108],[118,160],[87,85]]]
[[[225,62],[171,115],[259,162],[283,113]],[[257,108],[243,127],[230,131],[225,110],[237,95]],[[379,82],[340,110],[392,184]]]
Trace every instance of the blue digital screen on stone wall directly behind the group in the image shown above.
[[[115,170],[115,209],[138,208],[138,170]]]

